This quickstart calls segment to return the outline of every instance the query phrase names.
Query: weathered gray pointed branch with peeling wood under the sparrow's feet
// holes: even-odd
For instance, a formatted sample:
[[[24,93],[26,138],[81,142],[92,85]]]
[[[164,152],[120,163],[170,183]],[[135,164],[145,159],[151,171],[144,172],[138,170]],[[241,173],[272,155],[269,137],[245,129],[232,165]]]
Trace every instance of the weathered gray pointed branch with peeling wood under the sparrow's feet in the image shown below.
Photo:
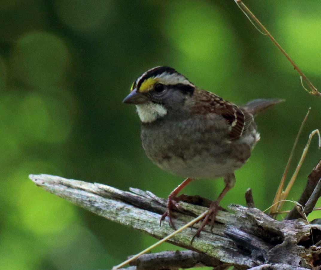
[[[125,192],[107,185],[50,175],[30,175],[30,179],[50,193],[157,239],[173,232],[167,222],[159,225],[166,201],[148,191],[130,189],[131,192]],[[206,210],[183,202],[179,205],[175,219],[177,227]],[[229,209],[231,213],[219,211],[213,233],[210,228],[205,228],[192,246],[196,225],[178,233],[169,242],[207,256],[215,267],[287,269],[284,265],[288,265],[291,266],[288,269],[293,270],[302,269],[298,267],[319,269],[321,248],[313,246],[313,243],[321,239],[320,225],[303,220],[276,221],[256,208],[235,204],[231,204]],[[264,268],[264,264],[269,266]]]

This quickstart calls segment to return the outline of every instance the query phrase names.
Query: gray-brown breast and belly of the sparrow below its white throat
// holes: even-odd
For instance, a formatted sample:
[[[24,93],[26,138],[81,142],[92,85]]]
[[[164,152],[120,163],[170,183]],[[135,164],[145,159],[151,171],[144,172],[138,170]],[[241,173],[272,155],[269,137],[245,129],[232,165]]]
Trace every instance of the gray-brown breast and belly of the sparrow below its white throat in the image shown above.
[[[195,179],[231,174],[250,157],[255,143],[226,139],[229,130],[224,126],[200,130],[202,127],[203,124],[193,123],[167,129],[145,127],[141,134],[143,148],[152,162],[163,170]],[[249,140],[255,138],[250,135]]]

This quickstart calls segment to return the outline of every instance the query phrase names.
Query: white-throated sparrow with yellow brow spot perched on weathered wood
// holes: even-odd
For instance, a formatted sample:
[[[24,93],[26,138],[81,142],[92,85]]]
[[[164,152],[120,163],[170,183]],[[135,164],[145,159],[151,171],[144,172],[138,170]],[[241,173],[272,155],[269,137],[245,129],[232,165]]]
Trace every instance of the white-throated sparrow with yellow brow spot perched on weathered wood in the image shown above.
[[[235,183],[234,171],[260,138],[253,114],[279,101],[256,99],[239,107],[197,88],[171,67],[154,67],[136,79],[123,102],[136,105],[147,156],[165,171],[187,177],[169,194],[160,221],[168,216],[174,227],[171,210],[190,181],[223,177],[225,188],[210,205],[196,236],[209,220],[213,224],[218,204]]]

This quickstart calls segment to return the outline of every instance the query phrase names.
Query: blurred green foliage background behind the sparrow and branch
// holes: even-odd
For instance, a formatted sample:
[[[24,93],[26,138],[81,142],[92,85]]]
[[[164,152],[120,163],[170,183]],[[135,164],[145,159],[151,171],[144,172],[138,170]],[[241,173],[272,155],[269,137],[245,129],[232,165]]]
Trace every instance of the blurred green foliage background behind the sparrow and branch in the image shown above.
[[[319,1],[246,4],[320,89]],[[308,107],[295,161],[320,128],[321,100],[232,0],[2,0],[0,25],[1,269],[108,269],[155,242],[28,179],[47,173],[166,197],[183,179],[148,160],[135,109],[122,104],[151,67],[175,67],[236,104],[286,99],[257,117],[261,141],[222,206],[244,204],[251,187],[256,206],[269,207]],[[289,199],[298,199],[319,158],[314,139]],[[199,180],[184,192],[214,199],[222,187]],[[154,251],[165,249],[176,247]]]

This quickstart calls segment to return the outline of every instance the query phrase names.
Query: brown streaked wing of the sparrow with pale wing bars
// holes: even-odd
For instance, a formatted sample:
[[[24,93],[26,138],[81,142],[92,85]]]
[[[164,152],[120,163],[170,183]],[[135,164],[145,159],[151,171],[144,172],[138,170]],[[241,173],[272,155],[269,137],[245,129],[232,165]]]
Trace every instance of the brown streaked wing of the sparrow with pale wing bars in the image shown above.
[[[253,116],[221,97],[204,90],[195,90],[195,104],[192,110],[195,113],[216,113],[221,115],[230,125],[230,139],[239,139],[253,122]]]

